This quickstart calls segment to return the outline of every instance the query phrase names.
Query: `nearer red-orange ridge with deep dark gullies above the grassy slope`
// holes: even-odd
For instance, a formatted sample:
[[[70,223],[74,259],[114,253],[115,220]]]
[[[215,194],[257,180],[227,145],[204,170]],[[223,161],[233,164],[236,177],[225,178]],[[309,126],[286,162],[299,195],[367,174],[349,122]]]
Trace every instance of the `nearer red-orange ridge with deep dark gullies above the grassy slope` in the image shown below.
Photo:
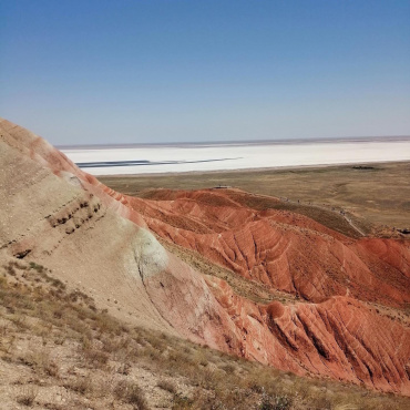
[[[248,341],[246,356],[300,375],[408,391],[409,329],[376,309],[342,296],[321,304],[258,306],[222,279],[209,278],[209,284]]]

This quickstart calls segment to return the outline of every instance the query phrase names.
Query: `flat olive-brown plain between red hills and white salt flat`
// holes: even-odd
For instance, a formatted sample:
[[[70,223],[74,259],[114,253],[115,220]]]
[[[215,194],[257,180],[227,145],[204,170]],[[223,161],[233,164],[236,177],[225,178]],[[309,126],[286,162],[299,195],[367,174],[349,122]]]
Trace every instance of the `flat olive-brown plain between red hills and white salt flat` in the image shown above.
[[[115,191],[141,197],[148,197],[153,188],[237,187],[256,195],[280,197],[283,208],[350,235],[355,233],[344,214],[366,234],[371,233],[375,225],[378,230],[385,229],[385,234],[393,227],[410,228],[410,162],[113,175],[99,180]]]

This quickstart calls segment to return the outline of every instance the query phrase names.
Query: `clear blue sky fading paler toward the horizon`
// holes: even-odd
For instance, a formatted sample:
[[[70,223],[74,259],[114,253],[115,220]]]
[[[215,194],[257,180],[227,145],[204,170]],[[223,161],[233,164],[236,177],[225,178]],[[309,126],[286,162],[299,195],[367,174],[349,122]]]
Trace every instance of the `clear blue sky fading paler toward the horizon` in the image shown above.
[[[53,144],[410,134],[410,0],[0,0],[0,55]]]

